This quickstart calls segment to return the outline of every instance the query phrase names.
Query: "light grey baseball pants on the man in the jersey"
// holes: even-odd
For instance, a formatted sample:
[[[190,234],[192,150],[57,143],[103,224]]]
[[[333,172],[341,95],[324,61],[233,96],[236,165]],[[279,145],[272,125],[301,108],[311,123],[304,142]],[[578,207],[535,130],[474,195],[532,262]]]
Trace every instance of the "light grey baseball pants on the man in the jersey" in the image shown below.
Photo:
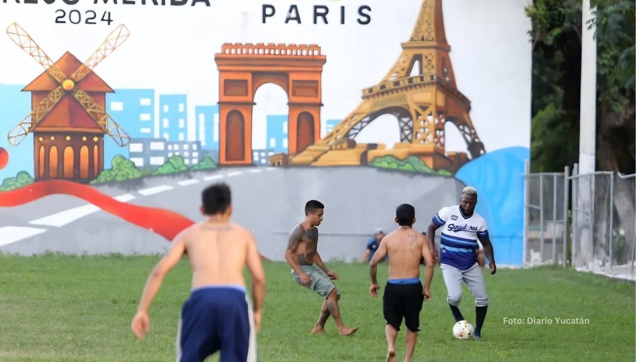
[[[485,279],[478,264],[475,264],[467,271],[460,271],[451,265],[440,264],[440,270],[442,271],[445,287],[447,288],[448,303],[455,307],[459,306],[460,298],[463,296],[463,289],[460,283],[465,281],[469,291],[474,296],[477,307],[488,305],[488,292],[486,291]]]

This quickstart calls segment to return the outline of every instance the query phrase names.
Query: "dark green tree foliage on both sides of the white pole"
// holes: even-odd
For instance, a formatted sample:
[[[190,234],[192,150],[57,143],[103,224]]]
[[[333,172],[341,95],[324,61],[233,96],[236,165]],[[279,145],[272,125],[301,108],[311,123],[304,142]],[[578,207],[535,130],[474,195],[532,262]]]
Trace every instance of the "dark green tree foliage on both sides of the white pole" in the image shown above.
[[[635,2],[593,0],[582,24],[578,0],[533,0],[532,171],[562,171],[579,158],[582,31],[597,40],[598,167],[635,171]]]

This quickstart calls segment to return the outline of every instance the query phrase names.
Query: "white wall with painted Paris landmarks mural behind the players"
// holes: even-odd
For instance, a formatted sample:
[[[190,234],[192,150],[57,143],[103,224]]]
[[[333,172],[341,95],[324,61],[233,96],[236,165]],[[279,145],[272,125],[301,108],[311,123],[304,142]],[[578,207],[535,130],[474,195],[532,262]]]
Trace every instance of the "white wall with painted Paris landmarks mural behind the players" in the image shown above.
[[[468,185],[520,264],[526,3],[2,2],[0,251],[162,252],[225,181],[267,258],[316,198],[352,260]]]

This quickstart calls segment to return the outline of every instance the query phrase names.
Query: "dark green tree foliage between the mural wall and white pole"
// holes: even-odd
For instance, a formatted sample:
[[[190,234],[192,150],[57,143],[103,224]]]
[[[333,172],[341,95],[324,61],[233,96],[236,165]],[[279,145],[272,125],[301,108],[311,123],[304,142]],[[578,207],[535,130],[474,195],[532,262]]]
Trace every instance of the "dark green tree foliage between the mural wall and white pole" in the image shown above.
[[[536,0],[532,19],[532,171],[562,171],[579,155],[582,8]]]

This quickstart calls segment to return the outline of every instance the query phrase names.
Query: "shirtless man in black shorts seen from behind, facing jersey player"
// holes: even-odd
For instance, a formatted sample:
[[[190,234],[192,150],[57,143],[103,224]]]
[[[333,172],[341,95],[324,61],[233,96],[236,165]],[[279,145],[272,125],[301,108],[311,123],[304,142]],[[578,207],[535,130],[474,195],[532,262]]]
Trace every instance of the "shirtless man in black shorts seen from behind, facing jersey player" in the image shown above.
[[[422,300],[430,300],[430,284],[434,275],[434,258],[430,252],[427,237],[412,229],[416,222],[412,205],[402,204],[396,208],[398,229],[384,236],[378,250],[369,263],[371,274],[371,294],[378,296],[380,289],[376,272],[378,263],[385,255],[389,259],[389,280],[384,287],[383,314],[387,336],[387,361],[395,361],[395,340],[398,336],[403,317],[407,327],[405,361],[412,361],[416,347]],[[420,263],[425,260],[425,286],[421,284]]]

